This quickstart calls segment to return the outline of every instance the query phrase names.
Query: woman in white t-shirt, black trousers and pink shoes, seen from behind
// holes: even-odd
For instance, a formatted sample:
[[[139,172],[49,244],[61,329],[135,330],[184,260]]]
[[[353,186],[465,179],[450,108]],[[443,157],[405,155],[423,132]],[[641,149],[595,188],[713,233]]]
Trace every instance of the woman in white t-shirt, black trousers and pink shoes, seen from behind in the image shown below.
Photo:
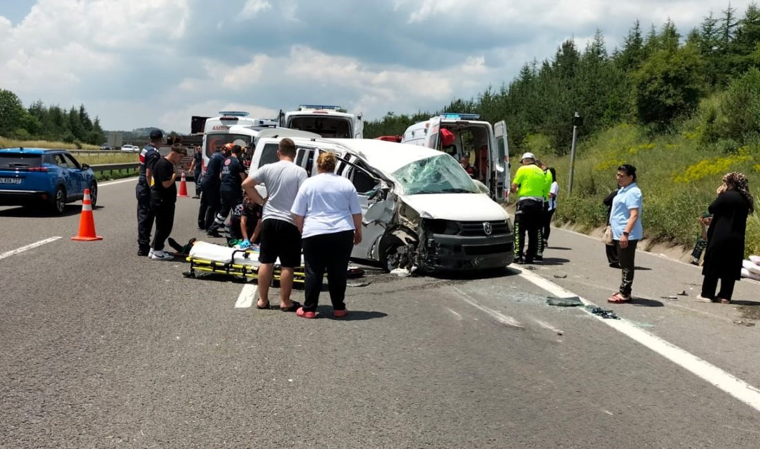
[[[316,318],[327,270],[333,315],[342,318],[348,313],[344,299],[351,249],[362,241],[362,208],[353,184],[334,173],[334,153],[319,155],[317,171],[303,182],[290,210],[301,230],[306,263],[306,300],[296,314]]]

